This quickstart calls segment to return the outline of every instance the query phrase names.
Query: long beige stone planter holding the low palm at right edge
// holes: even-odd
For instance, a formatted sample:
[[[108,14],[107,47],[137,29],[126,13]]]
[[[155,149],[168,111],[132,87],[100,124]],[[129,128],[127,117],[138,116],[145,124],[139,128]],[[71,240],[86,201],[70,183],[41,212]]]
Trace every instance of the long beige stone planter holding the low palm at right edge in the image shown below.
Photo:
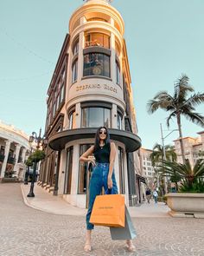
[[[204,218],[204,194],[170,193],[167,204],[172,217]]]

